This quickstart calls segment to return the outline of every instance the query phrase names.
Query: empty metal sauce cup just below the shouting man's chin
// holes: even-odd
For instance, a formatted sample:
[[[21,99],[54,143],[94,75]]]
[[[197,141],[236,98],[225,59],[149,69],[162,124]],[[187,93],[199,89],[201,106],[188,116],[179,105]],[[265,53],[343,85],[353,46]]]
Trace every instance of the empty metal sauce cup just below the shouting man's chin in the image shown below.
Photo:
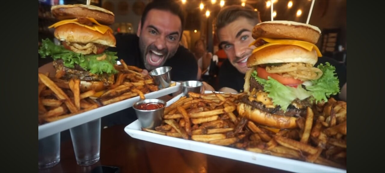
[[[171,67],[159,67],[152,70],[149,75],[154,79],[159,89],[167,88],[171,84]]]

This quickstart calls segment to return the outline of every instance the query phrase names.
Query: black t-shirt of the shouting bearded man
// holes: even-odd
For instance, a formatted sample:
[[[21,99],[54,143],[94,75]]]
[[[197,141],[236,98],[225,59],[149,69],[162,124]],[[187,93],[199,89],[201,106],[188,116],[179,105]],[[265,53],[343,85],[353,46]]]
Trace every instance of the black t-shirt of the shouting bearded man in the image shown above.
[[[118,58],[123,59],[127,65],[146,69],[141,58],[139,37],[128,34],[115,35],[115,38],[116,47],[110,47],[109,50],[117,52]],[[173,81],[197,80],[198,62],[194,55],[182,46],[179,46],[175,55],[169,58],[163,66],[172,68],[171,80]]]

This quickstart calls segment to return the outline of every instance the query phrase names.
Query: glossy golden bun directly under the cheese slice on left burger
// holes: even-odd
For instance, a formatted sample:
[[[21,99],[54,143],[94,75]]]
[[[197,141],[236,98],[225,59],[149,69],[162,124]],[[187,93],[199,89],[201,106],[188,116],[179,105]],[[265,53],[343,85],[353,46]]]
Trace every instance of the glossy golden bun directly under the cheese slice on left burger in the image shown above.
[[[116,44],[115,37],[109,30],[102,34],[74,23],[55,28],[54,36],[60,41],[72,43],[97,43],[109,47],[115,47]]]

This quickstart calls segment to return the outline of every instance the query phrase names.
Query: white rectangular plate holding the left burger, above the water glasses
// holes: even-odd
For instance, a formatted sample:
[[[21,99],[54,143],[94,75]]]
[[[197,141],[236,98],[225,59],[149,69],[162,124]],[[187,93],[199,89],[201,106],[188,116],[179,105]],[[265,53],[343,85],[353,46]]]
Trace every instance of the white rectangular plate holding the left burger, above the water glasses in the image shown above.
[[[176,86],[164,88],[158,91],[154,91],[151,93],[147,93],[144,96],[146,98],[159,98],[161,96],[165,96],[176,91],[179,91],[181,88],[181,83],[177,82]],[[96,120],[106,115],[110,115],[111,113],[115,113],[117,111],[126,109],[131,107],[136,101],[139,101],[139,96],[129,98],[127,100],[122,100],[116,103],[112,103],[110,105],[101,106],[99,108],[80,113],[74,116],[70,116],[68,118],[63,118],[58,121],[46,123],[39,126],[39,139],[45,138],[47,136],[53,135],[55,133],[59,133],[61,131],[70,129],[72,127],[82,125],[92,120]]]

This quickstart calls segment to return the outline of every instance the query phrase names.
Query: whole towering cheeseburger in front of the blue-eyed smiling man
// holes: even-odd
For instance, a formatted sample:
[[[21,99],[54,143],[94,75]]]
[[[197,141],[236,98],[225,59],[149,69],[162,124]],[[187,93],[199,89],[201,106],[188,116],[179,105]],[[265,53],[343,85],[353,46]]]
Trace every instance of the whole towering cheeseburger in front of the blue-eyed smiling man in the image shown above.
[[[335,67],[314,67],[320,50],[319,28],[291,21],[269,21],[253,28],[256,48],[246,65],[244,92],[237,111],[262,126],[296,128],[306,108],[339,93]]]

